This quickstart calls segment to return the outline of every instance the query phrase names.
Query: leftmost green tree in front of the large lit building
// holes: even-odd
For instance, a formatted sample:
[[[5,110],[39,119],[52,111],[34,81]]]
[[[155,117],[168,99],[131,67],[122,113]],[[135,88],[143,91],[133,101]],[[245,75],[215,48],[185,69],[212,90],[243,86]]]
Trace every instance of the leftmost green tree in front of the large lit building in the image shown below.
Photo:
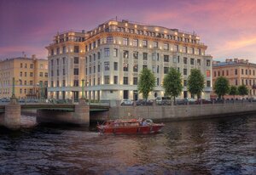
[[[143,99],[148,99],[148,93],[154,90],[155,77],[152,71],[148,68],[143,68],[140,72],[139,80],[137,83],[137,90],[139,93],[143,93]]]

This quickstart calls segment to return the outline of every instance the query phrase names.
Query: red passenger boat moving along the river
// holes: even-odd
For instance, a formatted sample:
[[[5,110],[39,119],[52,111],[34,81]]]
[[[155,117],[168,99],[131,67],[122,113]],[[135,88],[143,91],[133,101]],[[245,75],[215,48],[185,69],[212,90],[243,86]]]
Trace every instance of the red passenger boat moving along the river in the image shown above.
[[[154,123],[151,119],[130,119],[106,121],[97,125],[99,133],[158,133],[163,123]]]

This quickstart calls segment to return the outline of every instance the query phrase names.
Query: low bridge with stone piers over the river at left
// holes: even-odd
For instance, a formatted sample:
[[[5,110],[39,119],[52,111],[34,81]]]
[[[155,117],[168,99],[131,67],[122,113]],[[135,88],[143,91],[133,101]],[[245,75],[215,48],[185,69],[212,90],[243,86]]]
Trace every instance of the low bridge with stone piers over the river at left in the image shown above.
[[[26,110],[35,110],[38,122],[89,126],[90,117],[108,117],[109,105],[87,104],[84,99],[80,99],[79,104],[19,104],[13,100],[9,104],[0,104],[0,125],[10,129],[20,128],[20,114]]]

